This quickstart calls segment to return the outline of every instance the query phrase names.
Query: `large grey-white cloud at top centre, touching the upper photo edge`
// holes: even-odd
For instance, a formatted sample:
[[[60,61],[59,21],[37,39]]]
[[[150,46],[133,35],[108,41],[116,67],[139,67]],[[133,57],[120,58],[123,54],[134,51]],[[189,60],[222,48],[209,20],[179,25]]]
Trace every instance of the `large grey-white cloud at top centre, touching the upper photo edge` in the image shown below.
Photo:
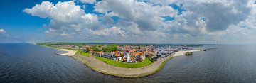
[[[175,16],[171,6],[159,6],[136,0],[103,0],[95,5],[95,11],[109,16],[119,16],[136,23],[144,31],[154,31],[161,27],[163,16]]]

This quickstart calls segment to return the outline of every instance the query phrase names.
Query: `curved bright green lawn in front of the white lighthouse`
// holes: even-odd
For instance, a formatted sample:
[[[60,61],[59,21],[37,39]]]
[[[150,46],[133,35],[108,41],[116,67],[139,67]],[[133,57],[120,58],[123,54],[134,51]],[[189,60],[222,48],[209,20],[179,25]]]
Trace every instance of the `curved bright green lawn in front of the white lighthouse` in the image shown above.
[[[142,62],[127,63],[127,62],[119,62],[119,61],[116,61],[116,60],[110,60],[110,59],[107,59],[107,58],[104,58],[104,57],[97,57],[97,56],[93,56],[93,57],[95,57],[97,60],[105,62],[108,65],[112,65],[114,67],[138,68],[138,67],[145,67],[145,66],[150,65],[150,64],[153,63],[149,60],[149,58],[146,58]]]

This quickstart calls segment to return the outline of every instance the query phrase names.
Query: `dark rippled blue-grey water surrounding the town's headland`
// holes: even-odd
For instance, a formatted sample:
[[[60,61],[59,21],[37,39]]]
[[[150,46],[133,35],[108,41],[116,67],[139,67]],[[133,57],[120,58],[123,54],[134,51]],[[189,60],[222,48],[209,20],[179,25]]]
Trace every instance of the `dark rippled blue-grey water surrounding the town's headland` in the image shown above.
[[[0,44],[0,82],[256,82],[256,45],[220,47],[175,57],[149,77],[122,78],[94,72],[55,49],[25,43]]]

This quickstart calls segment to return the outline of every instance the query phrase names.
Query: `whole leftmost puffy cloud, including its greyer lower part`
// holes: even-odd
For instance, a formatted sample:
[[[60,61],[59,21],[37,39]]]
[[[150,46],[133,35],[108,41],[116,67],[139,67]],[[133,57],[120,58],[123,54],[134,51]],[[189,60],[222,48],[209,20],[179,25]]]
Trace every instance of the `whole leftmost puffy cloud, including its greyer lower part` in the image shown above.
[[[98,23],[97,15],[85,13],[85,10],[81,9],[73,1],[59,1],[57,4],[43,1],[31,9],[24,9],[23,12],[32,16],[49,18],[50,23],[48,26],[45,26],[46,33],[49,35],[66,36],[68,38],[73,37],[75,33],[95,28]]]

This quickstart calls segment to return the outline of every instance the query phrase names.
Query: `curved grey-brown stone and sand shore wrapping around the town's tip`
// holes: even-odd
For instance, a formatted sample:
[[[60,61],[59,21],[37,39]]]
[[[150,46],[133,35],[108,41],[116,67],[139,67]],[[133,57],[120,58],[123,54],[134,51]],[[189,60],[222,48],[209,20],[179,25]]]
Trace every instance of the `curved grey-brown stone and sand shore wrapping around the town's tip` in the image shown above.
[[[188,51],[178,51],[175,52],[174,55],[161,58],[151,65],[140,68],[123,68],[123,67],[114,67],[112,65],[107,65],[105,62],[101,62],[97,60],[95,57],[90,55],[89,57],[85,57],[82,55],[73,55],[72,57],[75,60],[79,60],[80,62],[90,67],[92,70],[100,72],[102,74],[107,74],[116,77],[145,77],[151,74],[155,74],[159,72],[162,67],[168,62],[171,58],[185,55],[185,52],[198,52],[200,50],[188,50]]]

